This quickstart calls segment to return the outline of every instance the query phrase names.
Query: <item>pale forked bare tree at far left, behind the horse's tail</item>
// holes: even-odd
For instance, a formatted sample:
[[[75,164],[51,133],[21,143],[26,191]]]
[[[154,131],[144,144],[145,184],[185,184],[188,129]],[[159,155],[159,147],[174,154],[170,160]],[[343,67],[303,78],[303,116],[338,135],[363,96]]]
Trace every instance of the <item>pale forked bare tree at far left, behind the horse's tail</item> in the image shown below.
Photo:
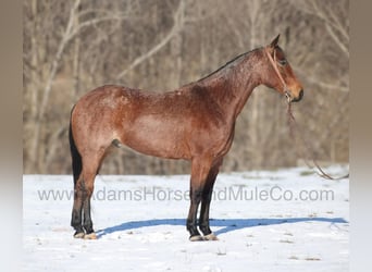
[[[69,11],[67,14],[69,16],[66,18],[61,17],[60,20],[65,21],[64,23],[64,28],[61,32],[60,37],[52,37],[55,40],[59,40],[58,45],[55,45],[55,48],[51,48],[50,51],[47,51],[46,49],[48,48],[48,40],[46,39],[38,39],[44,35],[44,32],[46,28],[52,27],[52,25],[41,25],[40,22],[38,21],[38,24],[35,28],[32,28],[34,33],[32,33],[30,37],[30,45],[29,45],[29,50],[28,48],[25,48],[26,52],[29,52],[29,55],[27,53],[24,55],[25,62],[24,62],[24,70],[25,73],[28,71],[36,72],[33,74],[28,74],[28,79],[30,82],[35,82],[37,87],[32,91],[32,103],[30,103],[30,115],[32,119],[34,120],[33,123],[33,134],[30,135],[30,144],[28,146],[28,152],[27,152],[27,159],[30,160],[33,163],[27,164],[30,168],[35,169],[36,171],[42,171],[44,169],[44,163],[45,163],[45,158],[44,158],[44,152],[40,151],[40,144],[41,140],[45,140],[41,138],[41,129],[45,125],[45,113],[47,111],[47,107],[49,103],[49,97],[50,92],[52,90],[52,85],[55,79],[55,75],[58,70],[61,66],[61,59],[63,53],[65,52],[65,49],[67,46],[74,40],[80,33],[84,30],[86,27],[90,26],[97,26],[99,23],[104,22],[104,21],[116,21],[116,20],[124,20],[127,18],[127,15],[125,13],[121,12],[109,12],[109,11],[102,11],[102,12],[96,12],[101,13],[98,16],[82,20],[82,17],[87,17],[87,13],[89,11],[85,11],[80,9],[80,0],[75,0],[73,3],[69,5],[58,5],[57,2],[50,1],[49,3],[45,4],[40,3],[39,1],[32,1],[28,3],[27,1],[24,2],[24,8],[27,10],[30,9],[30,12],[28,13],[29,15],[29,21],[38,21],[37,16],[38,14],[38,9],[44,10],[44,9],[50,9],[51,7],[57,10],[57,12],[61,12],[63,14],[65,11]],[[28,7],[30,4],[30,7]],[[61,10],[59,10],[59,8]],[[54,10],[54,11],[55,11]],[[42,11],[48,14],[48,12],[51,12],[51,10],[48,11]],[[63,23],[62,23],[63,25]],[[45,44],[42,44],[45,42]],[[52,45],[54,46],[54,45]],[[55,52],[53,53],[53,51]],[[37,59],[36,57],[40,55],[40,59],[47,63],[40,63],[40,59]],[[30,58],[32,61],[28,62],[27,58]],[[47,69],[45,66],[47,65]],[[41,101],[40,103],[38,101]],[[52,136],[52,139],[55,139],[58,135],[61,135],[64,128],[59,129],[54,135]],[[53,150],[53,149],[52,149]]]

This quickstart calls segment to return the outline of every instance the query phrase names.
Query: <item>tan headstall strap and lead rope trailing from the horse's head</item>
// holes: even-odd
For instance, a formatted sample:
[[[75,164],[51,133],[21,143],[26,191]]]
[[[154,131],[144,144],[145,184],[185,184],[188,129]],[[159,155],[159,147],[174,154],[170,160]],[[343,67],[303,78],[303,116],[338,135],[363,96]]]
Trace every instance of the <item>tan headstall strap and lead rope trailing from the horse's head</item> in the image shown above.
[[[299,134],[300,134],[300,135],[299,135],[299,138],[301,139],[301,141],[302,141],[305,148],[307,149],[307,151],[309,151],[309,153],[311,153],[311,151],[310,151],[310,150],[311,150],[310,145],[309,145],[309,143],[305,139],[303,133],[302,133],[301,129],[299,129],[299,127],[298,127],[298,125],[297,125],[297,122],[296,122],[296,119],[295,119],[295,116],[294,116],[294,114],[293,114],[293,112],[292,112],[290,95],[289,95],[289,92],[288,92],[287,85],[286,85],[285,81],[283,79],[283,77],[282,77],[282,75],[281,75],[281,73],[280,73],[280,71],[278,71],[278,69],[277,69],[277,65],[276,65],[276,63],[275,63],[275,59],[276,59],[276,58],[275,58],[275,50],[274,50],[274,59],[273,59],[273,57],[271,55],[271,53],[270,53],[270,51],[269,51],[268,48],[265,48],[264,51],[265,51],[265,53],[266,53],[266,55],[268,55],[268,58],[269,58],[269,60],[270,60],[270,62],[271,62],[271,64],[272,64],[272,66],[273,66],[274,71],[275,71],[277,77],[278,77],[280,81],[282,82],[282,85],[283,85],[283,92],[284,92],[284,95],[285,95],[286,98],[287,98],[287,106],[288,106],[288,107],[287,107],[287,113],[288,113],[289,134],[290,134],[290,136],[292,136],[294,139],[296,139],[296,137],[295,137],[295,128],[297,128],[297,131],[298,131]],[[296,152],[297,152],[297,156],[299,156],[298,149],[297,149],[297,148],[296,148]],[[310,165],[310,163],[309,163],[308,159],[306,158],[306,156],[299,156],[299,157],[302,157],[302,158],[303,158],[303,161],[305,161],[305,163],[308,165],[309,169],[311,169],[311,170],[313,169],[313,166]],[[317,172],[317,171],[313,171],[313,172],[317,173],[319,176],[325,178],[325,180],[338,181],[338,180],[343,180],[343,178],[348,178],[348,177],[349,177],[349,173],[347,173],[346,175],[339,176],[339,177],[331,176],[330,174],[325,173],[324,170],[318,164],[318,162],[317,162],[317,160],[315,160],[315,158],[314,158],[313,156],[311,156],[311,161],[312,161],[313,165],[314,165],[314,166],[318,169],[318,171],[319,171],[319,172]]]

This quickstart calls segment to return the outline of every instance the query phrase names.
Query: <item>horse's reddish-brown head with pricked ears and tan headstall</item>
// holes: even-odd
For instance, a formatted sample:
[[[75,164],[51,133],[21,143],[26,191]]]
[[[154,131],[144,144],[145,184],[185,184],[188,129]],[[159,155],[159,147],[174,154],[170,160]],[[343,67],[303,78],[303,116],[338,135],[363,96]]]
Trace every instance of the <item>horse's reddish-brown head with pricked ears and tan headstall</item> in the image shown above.
[[[278,38],[280,35],[263,49],[268,59],[268,75],[263,84],[284,94],[288,102],[297,102],[303,97],[302,85],[296,78],[284,51],[277,46]]]

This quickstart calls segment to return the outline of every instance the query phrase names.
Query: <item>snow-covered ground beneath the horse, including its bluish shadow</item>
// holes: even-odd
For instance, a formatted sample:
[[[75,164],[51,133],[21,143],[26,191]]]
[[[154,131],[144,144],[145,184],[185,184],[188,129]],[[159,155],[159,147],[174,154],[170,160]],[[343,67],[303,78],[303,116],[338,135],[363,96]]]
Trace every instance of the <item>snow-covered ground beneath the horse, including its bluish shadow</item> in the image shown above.
[[[347,168],[326,169],[343,174]],[[348,271],[349,180],[307,169],[220,174],[216,242],[189,242],[187,175],[96,178],[97,240],[73,238],[72,176],[25,175],[25,271]]]

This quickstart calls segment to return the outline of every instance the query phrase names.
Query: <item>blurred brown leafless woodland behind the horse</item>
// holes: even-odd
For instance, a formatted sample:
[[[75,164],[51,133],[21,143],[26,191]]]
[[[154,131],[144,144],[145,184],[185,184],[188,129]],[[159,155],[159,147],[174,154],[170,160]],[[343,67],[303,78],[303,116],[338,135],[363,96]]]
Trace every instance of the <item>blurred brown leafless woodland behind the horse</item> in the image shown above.
[[[165,91],[269,44],[305,87],[294,114],[317,159],[348,162],[348,0],[26,0],[23,3],[24,173],[71,173],[70,111],[104,84]],[[294,166],[286,102],[257,88],[236,124],[222,171]],[[184,161],[121,149],[106,174],[188,173]]]

